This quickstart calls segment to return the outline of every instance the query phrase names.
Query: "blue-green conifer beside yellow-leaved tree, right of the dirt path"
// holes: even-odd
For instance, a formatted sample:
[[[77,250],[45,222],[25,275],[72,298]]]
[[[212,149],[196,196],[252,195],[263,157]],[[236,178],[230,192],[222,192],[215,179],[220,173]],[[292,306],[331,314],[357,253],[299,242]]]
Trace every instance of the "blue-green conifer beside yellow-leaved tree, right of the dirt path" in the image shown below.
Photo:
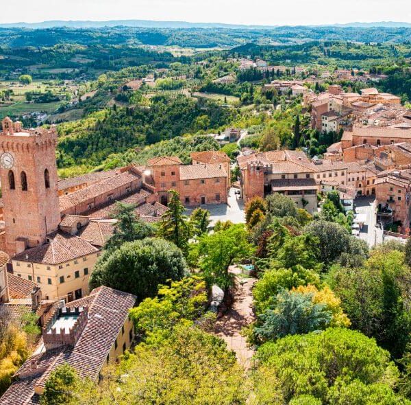
[[[314,303],[313,294],[282,290],[259,316],[255,332],[263,340],[275,340],[286,335],[306,334],[329,326],[332,312],[325,304]]]

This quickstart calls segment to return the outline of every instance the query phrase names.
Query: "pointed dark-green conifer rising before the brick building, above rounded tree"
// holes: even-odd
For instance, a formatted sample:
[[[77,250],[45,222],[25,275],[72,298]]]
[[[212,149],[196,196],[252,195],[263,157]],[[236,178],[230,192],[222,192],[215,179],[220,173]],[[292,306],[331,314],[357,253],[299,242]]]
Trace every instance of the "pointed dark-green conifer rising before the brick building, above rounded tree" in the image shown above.
[[[188,239],[192,234],[188,217],[184,215],[184,205],[179,199],[179,193],[175,190],[169,192],[171,198],[169,209],[163,213],[158,235],[173,242],[182,251],[186,252]]]

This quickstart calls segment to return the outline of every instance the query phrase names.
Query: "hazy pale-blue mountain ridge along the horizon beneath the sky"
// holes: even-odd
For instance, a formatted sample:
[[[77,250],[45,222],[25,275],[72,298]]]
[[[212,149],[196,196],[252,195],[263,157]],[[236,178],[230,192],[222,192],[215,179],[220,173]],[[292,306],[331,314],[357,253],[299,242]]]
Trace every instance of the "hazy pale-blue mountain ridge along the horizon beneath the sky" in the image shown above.
[[[272,29],[279,25],[242,25],[225,23],[189,23],[187,21],[150,21],[150,20],[110,20],[110,21],[42,21],[40,23],[7,23],[0,24],[2,28],[101,28],[101,27],[142,27],[142,28],[231,28],[231,29]],[[382,21],[375,23],[347,23],[347,24],[324,24],[319,27],[411,27],[411,23],[401,23],[395,21]],[[315,27],[311,26],[311,27]]]

